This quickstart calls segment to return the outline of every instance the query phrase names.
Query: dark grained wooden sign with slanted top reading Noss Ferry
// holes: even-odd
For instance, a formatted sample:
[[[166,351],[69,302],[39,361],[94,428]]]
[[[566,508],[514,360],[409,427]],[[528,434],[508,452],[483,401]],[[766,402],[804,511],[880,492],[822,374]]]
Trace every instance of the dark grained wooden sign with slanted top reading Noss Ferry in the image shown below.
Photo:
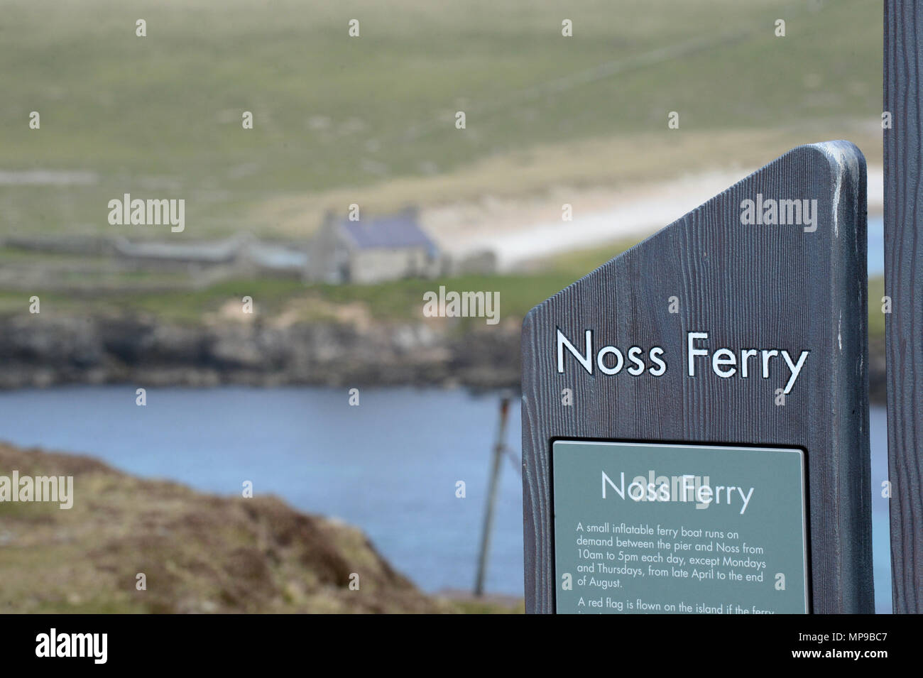
[[[526,612],[658,611],[648,603],[670,587],[688,595],[655,601],[659,611],[708,611],[717,600],[697,600],[704,590],[698,579],[674,586],[666,574],[688,577],[695,567],[701,574],[702,565],[718,577],[731,573],[724,611],[744,612],[750,594],[774,601],[781,546],[760,545],[754,561],[764,562],[767,576],[738,586],[729,580],[746,565],[736,572],[724,565],[737,565],[737,553],[725,561],[725,553],[715,560],[695,551],[752,548],[753,541],[742,544],[751,528],[774,544],[804,538],[807,546],[802,601],[763,612],[803,609],[805,598],[812,613],[873,612],[866,250],[865,158],[849,142],[813,144],[789,151],[533,308],[522,325]],[[606,451],[581,446],[585,441],[656,445]],[[556,445],[562,451],[554,458]],[[730,456],[723,462],[720,454]],[[789,460],[778,471],[768,463],[776,457],[761,457],[784,454]],[[664,477],[658,461],[668,465]],[[648,473],[650,487],[626,488]],[[676,480],[671,491],[677,474],[705,479],[711,494],[694,495],[683,481],[677,494]],[[753,503],[743,515],[738,508],[749,491]],[[714,503],[699,510],[686,498]],[[785,507],[785,522],[773,502]],[[557,534],[556,506],[569,520]],[[707,531],[695,540],[667,531],[692,534],[703,524]],[[662,541],[624,531],[655,525],[665,530]],[[586,538],[603,545],[577,551]],[[616,546],[605,545],[610,538]],[[654,564],[671,553],[673,565]],[[623,560],[635,555],[634,563]],[[622,574],[607,576],[603,586],[612,589],[599,589],[602,577],[558,572],[556,557],[561,567],[581,565],[584,573],[612,572],[610,558]],[[785,557],[791,581],[800,555],[795,549]],[[649,573],[665,577],[664,586]],[[586,588],[588,581],[597,588]],[[619,604],[622,610],[598,609]]]

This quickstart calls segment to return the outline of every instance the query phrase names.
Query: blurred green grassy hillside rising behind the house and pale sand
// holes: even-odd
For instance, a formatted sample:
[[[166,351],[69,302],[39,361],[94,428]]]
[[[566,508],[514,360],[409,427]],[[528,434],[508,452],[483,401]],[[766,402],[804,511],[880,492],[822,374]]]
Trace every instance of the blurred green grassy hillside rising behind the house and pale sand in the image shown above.
[[[0,235],[112,234],[106,203],[131,193],[186,198],[171,238],[292,236],[350,202],[426,205],[873,141],[881,5],[6,0],[0,63]],[[12,184],[29,170],[89,183]]]

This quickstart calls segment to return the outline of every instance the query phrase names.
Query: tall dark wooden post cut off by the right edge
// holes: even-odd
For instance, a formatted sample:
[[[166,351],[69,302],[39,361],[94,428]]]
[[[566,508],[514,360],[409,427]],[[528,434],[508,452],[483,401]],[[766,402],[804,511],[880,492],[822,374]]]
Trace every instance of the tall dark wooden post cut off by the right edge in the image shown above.
[[[923,613],[923,7],[884,7],[884,300],[894,613]],[[876,488],[877,490],[878,488]]]

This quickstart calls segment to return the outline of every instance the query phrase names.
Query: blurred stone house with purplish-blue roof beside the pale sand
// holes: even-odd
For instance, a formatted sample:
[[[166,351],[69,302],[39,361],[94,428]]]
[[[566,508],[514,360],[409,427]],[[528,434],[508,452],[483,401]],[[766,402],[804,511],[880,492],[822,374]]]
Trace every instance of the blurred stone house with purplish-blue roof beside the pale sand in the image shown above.
[[[446,263],[415,209],[357,221],[328,214],[308,245],[308,259],[309,279],[328,283],[434,278]]]

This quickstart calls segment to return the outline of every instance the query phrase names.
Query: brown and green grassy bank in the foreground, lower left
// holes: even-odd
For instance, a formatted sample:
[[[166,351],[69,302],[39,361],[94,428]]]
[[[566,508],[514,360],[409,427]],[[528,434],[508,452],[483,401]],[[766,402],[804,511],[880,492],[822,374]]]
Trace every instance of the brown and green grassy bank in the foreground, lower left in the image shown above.
[[[0,444],[0,475],[13,470],[74,476],[74,502],[0,503],[0,613],[507,611],[427,596],[359,529],[275,497],[199,494]]]

